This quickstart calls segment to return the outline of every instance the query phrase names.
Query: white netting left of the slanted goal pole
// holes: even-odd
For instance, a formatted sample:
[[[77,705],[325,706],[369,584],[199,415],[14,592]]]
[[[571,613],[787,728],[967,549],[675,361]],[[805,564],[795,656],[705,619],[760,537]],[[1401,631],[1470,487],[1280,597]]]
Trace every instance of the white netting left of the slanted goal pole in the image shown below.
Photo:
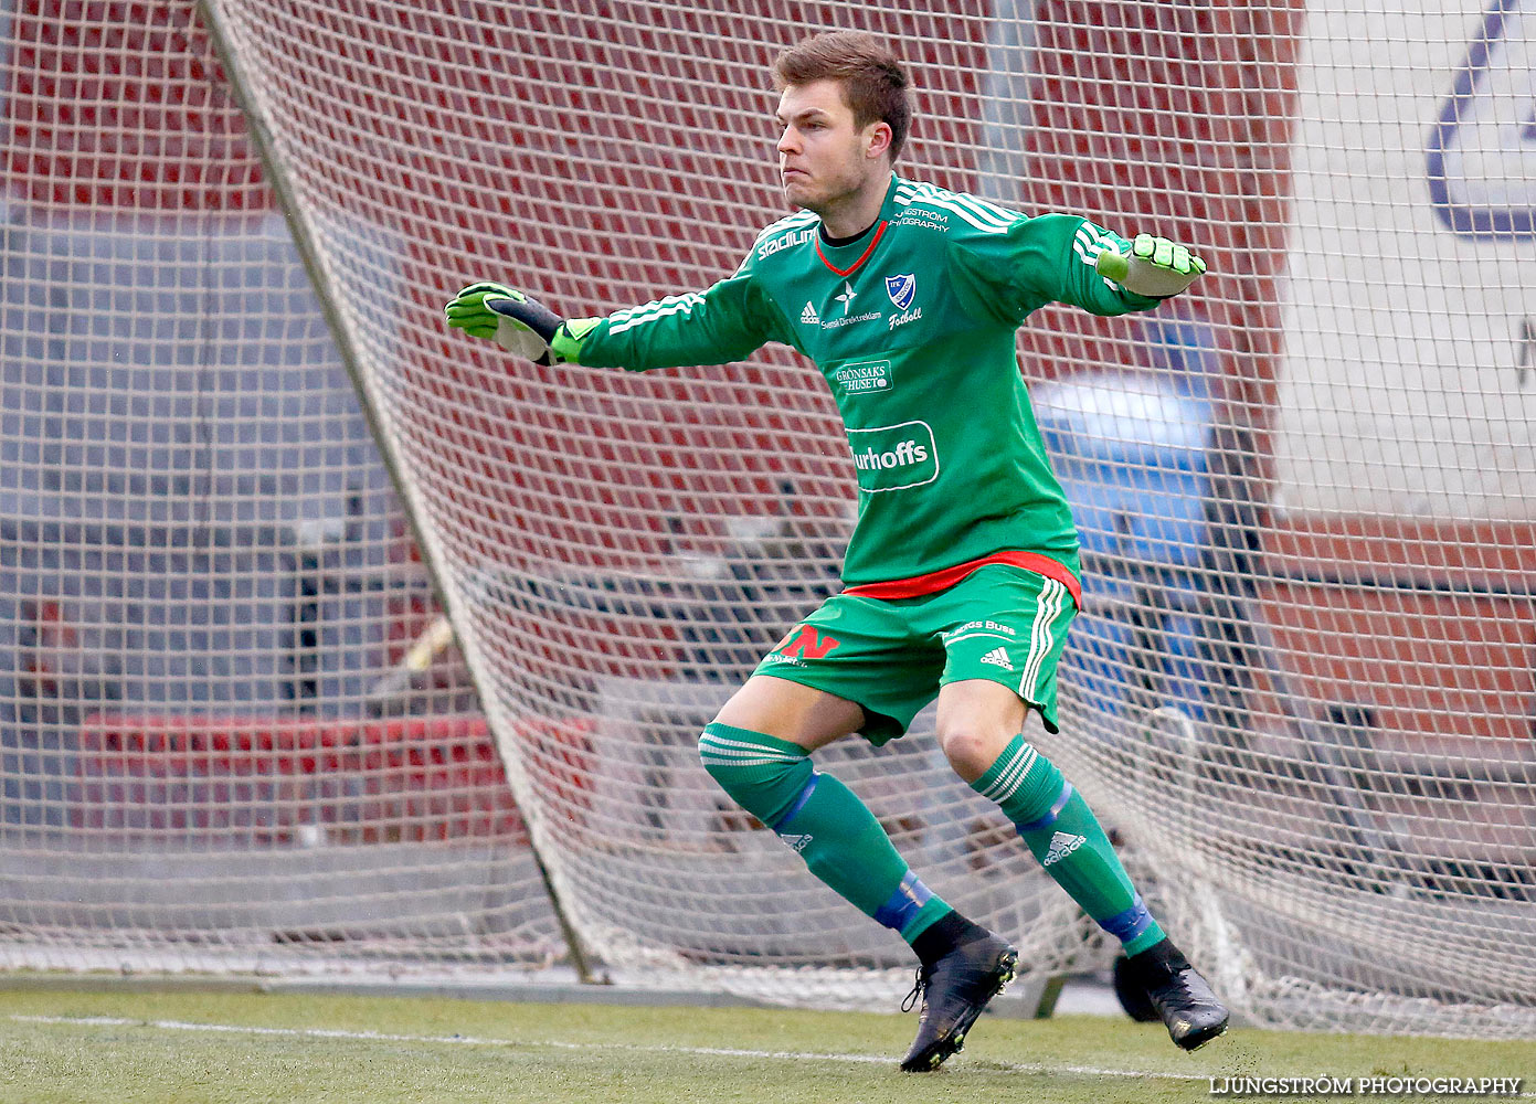
[[[190,5],[0,11],[0,966],[562,954]]]

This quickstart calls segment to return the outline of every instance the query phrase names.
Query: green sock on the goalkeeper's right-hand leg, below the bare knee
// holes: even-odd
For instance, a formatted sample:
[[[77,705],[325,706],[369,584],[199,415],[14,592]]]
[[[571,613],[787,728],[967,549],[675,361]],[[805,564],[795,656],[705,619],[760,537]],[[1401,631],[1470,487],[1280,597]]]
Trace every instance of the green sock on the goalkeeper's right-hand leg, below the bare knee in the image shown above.
[[[1127,955],[1163,938],[1087,802],[1023,735],[971,788],[1001,806],[1046,874]]]

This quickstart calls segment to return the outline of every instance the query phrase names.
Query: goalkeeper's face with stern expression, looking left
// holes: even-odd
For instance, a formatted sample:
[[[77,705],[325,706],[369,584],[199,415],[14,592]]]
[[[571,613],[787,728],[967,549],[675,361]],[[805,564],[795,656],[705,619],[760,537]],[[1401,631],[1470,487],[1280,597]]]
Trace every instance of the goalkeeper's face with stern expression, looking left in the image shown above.
[[[783,197],[796,207],[822,212],[859,187],[874,174],[889,172],[882,154],[888,147],[889,126],[854,126],[854,112],[843,103],[842,84],[819,80],[790,84],[779,100],[776,115],[783,135],[779,138],[779,175]]]

